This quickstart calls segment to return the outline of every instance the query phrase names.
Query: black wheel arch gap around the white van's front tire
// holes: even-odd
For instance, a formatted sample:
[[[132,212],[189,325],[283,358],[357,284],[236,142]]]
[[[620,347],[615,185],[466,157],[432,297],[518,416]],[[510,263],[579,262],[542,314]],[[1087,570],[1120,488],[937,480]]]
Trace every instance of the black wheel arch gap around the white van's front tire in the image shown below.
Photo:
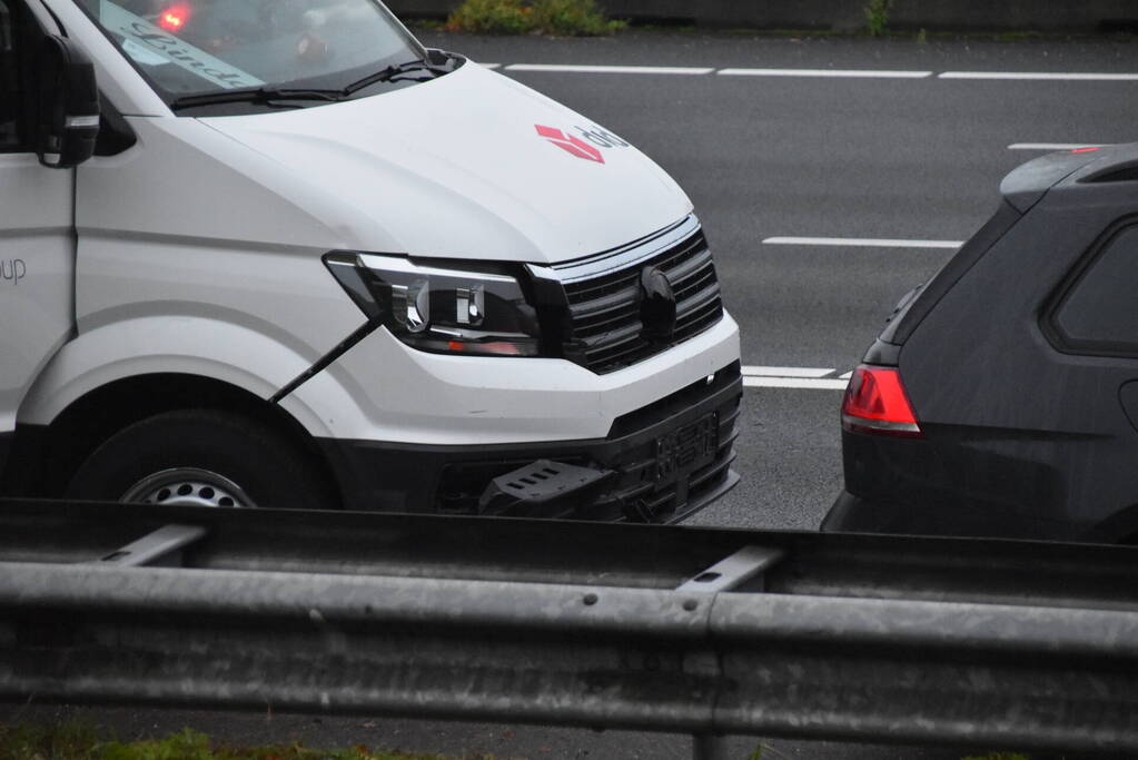
[[[112,437],[148,418],[188,410],[224,412],[271,430],[304,453],[331,501],[340,502],[332,463],[292,415],[237,386],[181,373],[117,380],[76,399],[49,426],[17,426],[2,490],[60,497],[82,463]]]

